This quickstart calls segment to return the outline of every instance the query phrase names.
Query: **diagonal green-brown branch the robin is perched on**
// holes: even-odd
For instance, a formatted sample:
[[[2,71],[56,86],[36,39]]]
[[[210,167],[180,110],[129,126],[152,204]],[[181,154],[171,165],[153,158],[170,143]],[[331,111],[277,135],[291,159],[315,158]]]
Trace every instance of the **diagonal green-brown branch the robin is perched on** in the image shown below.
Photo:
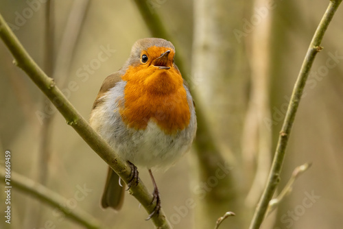
[[[70,103],[70,101],[62,94],[60,89],[55,85],[54,80],[47,77],[45,73],[38,67],[36,62],[32,60],[27,51],[19,43],[18,38],[14,36],[10,27],[5,23],[5,20],[0,14],[0,37],[5,45],[10,49],[15,58],[14,63],[18,65],[31,80],[40,88],[40,90],[52,101],[54,106],[66,119],[67,124],[86,141],[86,143],[126,182],[130,182],[130,167],[127,167],[126,162],[121,160],[104,139],[88,125],[87,121],[80,115]],[[133,195],[144,208],[147,213],[152,213],[154,204],[152,204],[152,194],[147,191],[143,182],[139,182],[137,186],[131,186],[130,194]],[[163,210],[160,214],[154,215],[152,221],[156,228],[171,228],[167,221]]]

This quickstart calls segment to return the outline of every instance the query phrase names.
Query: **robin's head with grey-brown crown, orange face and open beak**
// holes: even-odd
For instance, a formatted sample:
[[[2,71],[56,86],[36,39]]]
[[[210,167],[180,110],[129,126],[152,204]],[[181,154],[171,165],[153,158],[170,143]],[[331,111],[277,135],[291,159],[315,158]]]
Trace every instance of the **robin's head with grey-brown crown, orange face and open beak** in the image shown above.
[[[134,43],[126,62],[123,80],[146,86],[152,93],[168,93],[183,84],[174,63],[175,48],[161,38],[144,38]]]

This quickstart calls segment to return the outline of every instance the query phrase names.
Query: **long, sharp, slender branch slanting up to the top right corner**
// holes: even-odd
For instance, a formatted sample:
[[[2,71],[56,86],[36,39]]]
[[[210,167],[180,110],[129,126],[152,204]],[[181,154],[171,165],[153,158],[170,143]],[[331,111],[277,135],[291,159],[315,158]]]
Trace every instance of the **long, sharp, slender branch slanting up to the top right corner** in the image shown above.
[[[305,60],[303,61],[303,65],[300,69],[298,79],[294,85],[285,120],[283,121],[279,141],[276,145],[274,160],[272,162],[272,168],[270,169],[270,174],[268,177],[268,184],[265,186],[265,190],[263,191],[261,199],[259,200],[259,204],[257,205],[257,209],[255,210],[254,217],[252,217],[250,229],[257,229],[261,226],[265,217],[265,213],[268,209],[268,203],[274,195],[277,184],[279,184],[281,167],[285,158],[285,149],[287,147],[289,134],[291,133],[294,118],[296,116],[296,110],[298,110],[306,80],[309,76],[309,70],[311,69],[316,54],[322,49],[322,47],[320,47],[320,43],[322,42],[324,33],[327,30],[327,27],[329,26],[329,23],[331,22],[331,19],[333,18],[333,15],[335,14],[335,11],[338,9],[338,6],[341,2],[342,0],[330,1],[327,11],[324,13],[324,16],[322,16],[322,21],[320,21],[314,37],[311,40]]]

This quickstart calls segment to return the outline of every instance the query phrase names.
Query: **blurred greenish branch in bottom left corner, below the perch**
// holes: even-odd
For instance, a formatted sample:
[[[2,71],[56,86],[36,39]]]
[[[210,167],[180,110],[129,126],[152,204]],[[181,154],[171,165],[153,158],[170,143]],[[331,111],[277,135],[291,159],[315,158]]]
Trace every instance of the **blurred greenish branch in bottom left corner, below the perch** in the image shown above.
[[[5,168],[0,167],[0,180],[1,182],[5,182]],[[21,176],[19,173],[15,173],[11,171],[11,184],[13,187],[36,197],[36,199],[40,200],[41,202],[45,202],[46,204],[58,208],[73,221],[78,222],[82,226],[86,228],[100,228],[101,223],[97,221],[92,215],[89,215],[84,210],[80,208],[71,209],[68,208],[66,203],[68,200],[58,193],[47,189],[46,186],[34,182],[25,176]]]

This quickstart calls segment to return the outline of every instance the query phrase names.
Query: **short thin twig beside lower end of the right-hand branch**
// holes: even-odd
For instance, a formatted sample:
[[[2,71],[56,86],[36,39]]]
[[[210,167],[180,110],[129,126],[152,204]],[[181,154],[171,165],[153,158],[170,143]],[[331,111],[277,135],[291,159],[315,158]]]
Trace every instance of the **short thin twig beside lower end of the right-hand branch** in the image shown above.
[[[296,181],[296,179],[301,174],[305,173],[305,171],[307,171],[307,169],[309,169],[309,167],[311,167],[311,163],[305,163],[304,165],[300,165],[294,169],[291,178],[289,178],[287,184],[285,185],[285,187],[283,188],[281,193],[276,198],[270,200],[270,202],[268,204],[267,213],[265,214],[266,216],[268,216],[270,213],[272,213],[272,211],[275,210],[276,207],[280,205],[280,203],[284,200],[284,198],[287,195],[289,195],[289,193],[292,192],[294,182]]]

